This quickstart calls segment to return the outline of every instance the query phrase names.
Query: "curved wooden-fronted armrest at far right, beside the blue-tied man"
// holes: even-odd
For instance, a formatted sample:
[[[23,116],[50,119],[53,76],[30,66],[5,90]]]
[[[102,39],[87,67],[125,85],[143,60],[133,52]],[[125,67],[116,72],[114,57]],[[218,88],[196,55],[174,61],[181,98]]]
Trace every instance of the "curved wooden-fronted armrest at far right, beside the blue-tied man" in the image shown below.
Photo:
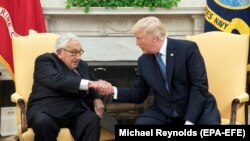
[[[249,101],[249,95],[247,93],[241,93],[237,95],[231,104],[231,116],[230,116],[230,124],[236,123],[236,114],[237,114],[237,106],[240,103],[248,102]]]

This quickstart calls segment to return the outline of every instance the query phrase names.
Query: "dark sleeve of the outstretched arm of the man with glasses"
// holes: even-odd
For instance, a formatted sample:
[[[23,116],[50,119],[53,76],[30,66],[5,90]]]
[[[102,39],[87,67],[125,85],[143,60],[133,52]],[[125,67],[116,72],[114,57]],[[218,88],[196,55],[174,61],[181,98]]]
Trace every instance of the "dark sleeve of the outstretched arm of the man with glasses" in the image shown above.
[[[34,81],[63,94],[79,94],[81,78],[64,74],[62,64],[51,55],[45,54],[35,61]]]

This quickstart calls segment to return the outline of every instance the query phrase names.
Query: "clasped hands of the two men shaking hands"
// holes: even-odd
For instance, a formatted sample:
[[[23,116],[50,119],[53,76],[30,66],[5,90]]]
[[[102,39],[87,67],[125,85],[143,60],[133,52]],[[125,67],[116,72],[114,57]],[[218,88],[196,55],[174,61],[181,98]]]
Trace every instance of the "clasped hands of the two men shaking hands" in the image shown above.
[[[114,94],[114,87],[111,85],[111,83],[104,80],[89,81],[88,87],[95,89],[95,91],[104,96]]]

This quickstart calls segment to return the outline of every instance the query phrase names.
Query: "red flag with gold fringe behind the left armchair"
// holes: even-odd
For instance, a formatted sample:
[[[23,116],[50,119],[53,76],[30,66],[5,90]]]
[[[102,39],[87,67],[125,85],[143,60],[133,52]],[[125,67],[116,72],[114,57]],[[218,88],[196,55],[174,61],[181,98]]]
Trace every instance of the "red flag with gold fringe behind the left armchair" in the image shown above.
[[[0,0],[0,63],[14,79],[11,37],[46,32],[40,0]],[[27,54],[28,55],[28,54]]]

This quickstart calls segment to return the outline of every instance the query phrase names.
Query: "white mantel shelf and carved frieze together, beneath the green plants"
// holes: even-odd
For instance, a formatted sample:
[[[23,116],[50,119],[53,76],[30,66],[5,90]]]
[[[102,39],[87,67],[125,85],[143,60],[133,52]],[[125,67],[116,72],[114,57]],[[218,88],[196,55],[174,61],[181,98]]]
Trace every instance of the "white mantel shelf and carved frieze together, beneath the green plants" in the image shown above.
[[[80,36],[123,36],[131,26],[145,16],[159,17],[170,36],[184,36],[203,31],[204,7],[158,8],[91,8],[86,14],[82,8],[43,7],[49,32],[76,32]],[[180,32],[183,32],[180,34]]]

